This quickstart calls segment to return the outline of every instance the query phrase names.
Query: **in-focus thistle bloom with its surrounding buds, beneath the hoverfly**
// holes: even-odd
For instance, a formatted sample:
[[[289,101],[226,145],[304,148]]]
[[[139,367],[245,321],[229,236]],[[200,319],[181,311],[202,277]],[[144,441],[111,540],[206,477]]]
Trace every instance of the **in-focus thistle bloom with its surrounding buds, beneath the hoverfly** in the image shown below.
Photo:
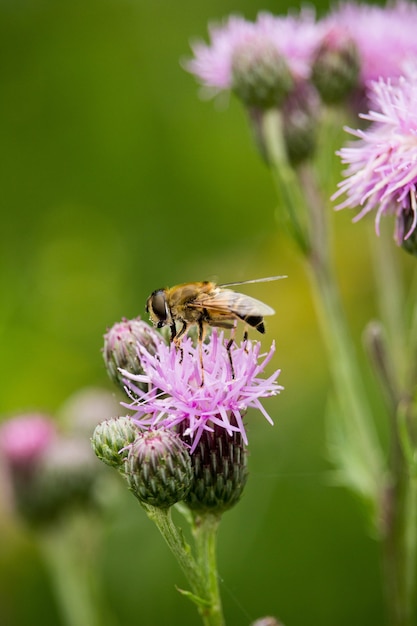
[[[131,414],[100,423],[93,450],[145,507],[183,501],[193,511],[221,513],[239,500],[247,479],[243,415],[282,389],[279,371],[260,377],[274,346],[260,362],[258,342],[230,348],[213,331],[205,344],[187,338],[177,350],[145,326],[124,320],[105,336],[107,369],[123,381],[129,402],[122,404]]]

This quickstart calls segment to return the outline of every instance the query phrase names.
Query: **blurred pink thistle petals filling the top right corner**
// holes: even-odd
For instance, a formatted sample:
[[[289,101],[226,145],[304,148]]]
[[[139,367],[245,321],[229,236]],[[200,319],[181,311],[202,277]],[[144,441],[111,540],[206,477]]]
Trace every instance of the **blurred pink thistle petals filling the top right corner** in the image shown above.
[[[340,27],[355,42],[361,60],[360,81],[398,78],[417,56],[417,6],[405,0],[391,5],[341,4],[323,26]]]

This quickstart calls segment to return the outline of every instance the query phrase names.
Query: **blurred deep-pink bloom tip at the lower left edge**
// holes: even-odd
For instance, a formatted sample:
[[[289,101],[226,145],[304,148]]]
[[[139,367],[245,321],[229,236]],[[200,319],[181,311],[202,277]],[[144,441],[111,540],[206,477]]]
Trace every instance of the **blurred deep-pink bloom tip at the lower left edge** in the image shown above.
[[[0,452],[15,467],[28,467],[46,452],[56,436],[52,419],[41,414],[19,415],[0,426]]]

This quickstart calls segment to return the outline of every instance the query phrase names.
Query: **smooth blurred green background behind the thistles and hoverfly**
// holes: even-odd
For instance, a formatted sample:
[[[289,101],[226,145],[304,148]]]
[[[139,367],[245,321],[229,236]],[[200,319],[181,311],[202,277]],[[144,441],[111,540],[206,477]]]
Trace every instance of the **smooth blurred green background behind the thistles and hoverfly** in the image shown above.
[[[143,315],[156,288],[288,274],[248,287],[277,310],[268,337],[285,392],[265,403],[273,428],[248,417],[250,480],[219,536],[227,622],[274,614],[286,626],[380,624],[377,544],[361,504],[330,481],[329,375],[304,268],[277,231],[273,185],[245,112],[233,98],[223,107],[202,101],[181,66],[208,22],[288,6],[298,8],[1,1],[0,412],[54,413],[81,387],[111,389],[103,333]],[[329,194],[339,169],[335,159]],[[375,315],[372,225],[351,217],[331,220],[360,350]],[[373,385],[365,363],[364,376]],[[61,626],[36,544],[6,515],[0,524],[0,624]],[[99,559],[119,626],[198,623],[175,589],[185,586],[181,572],[122,485]]]

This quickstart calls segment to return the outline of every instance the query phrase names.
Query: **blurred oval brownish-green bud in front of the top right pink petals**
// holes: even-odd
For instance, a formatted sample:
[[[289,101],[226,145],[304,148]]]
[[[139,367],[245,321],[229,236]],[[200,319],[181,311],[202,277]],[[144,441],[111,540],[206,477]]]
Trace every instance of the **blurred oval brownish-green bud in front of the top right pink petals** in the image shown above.
[[[360,58],[355,42],[340,28],[331,28],[316,53],[311,79],[327,104],[342,102],[357,86]]]

